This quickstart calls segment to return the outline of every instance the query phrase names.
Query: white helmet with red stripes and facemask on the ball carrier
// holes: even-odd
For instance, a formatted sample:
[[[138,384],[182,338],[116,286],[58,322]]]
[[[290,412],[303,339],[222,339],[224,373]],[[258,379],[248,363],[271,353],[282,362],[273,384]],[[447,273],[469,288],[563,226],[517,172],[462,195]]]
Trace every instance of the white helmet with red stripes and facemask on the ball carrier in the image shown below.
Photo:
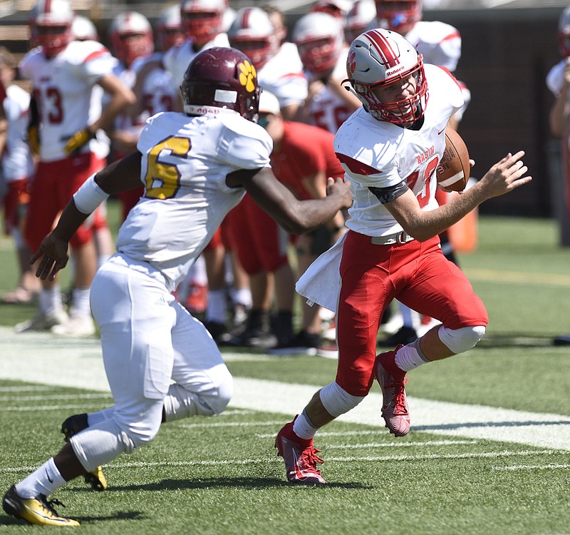
[[[353,93],[376,120],[408,125],[425,113],[428,93],[422,55],[395,31],[375,29],[358,36],[348,51],[346,73],[344,82],[350,82]],[[373,91],[410,76],[416,83],[412,96],[382,102]]]

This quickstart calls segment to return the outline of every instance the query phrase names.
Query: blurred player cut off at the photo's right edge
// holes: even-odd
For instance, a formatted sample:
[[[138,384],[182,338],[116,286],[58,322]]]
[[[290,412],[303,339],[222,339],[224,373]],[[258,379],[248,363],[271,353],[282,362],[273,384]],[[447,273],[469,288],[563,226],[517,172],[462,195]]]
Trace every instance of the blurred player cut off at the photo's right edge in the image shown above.
[[[570,6],[560,14],[557,37],[562,59],[546,75],[546,85],[556,98],[550,110],[550,132],[561,139],[561,169],[564,176],[561,238],[565,243],[570,238],[566,236],[566,225],[570,221]],[[554,338],[554,345],[570,345],[570,334]]]

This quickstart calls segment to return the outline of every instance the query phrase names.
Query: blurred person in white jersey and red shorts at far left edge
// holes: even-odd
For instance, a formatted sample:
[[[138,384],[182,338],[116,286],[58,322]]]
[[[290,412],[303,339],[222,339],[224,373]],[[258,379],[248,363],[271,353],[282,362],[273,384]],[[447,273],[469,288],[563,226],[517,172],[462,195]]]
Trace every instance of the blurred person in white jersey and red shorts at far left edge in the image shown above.
[[[14,84],[16,59],[6,47],[0,47],[0,85],[4,98],[4,133],[0,133],[0,190],[4,212],[4,231],[11,235],[16,247],[19,281],[14,290],[7,292],[2,301],[27,303],[38,296],[41,284],[31,270],[31,251],[24,240],[24,220],[29,202],[28,181],[33,176],[33,158],[27,143],[30,94]]]

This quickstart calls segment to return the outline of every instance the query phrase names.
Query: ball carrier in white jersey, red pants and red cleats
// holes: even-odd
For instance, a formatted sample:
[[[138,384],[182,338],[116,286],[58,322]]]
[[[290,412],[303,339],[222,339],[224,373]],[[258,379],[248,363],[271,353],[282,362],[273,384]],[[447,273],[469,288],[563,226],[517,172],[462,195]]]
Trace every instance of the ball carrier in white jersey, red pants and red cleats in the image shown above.
[[[487,311],[463,272],[442,254],[437,235],[484,200],[531,180],[521,161],[524,153],[508,154],[470,190],[438,208],[435,169],[445,148],[444,131],[463,104],[455,78],[424,66],[409,41],[384,29],[353,41],[346,70],[363,103],[335,137],[337,157],[353,187],[349,230],[297,284],[301,295],[337,312],[338,369],[336,379],[276,437],[287,478],[299,483],[325,482],[313,437],[356,407],[374,379],[383,392],[385,425],[401,437],[410,430],[406,373],[479,342]],[[395,297],[443,325],[376,356],[380,318]]]

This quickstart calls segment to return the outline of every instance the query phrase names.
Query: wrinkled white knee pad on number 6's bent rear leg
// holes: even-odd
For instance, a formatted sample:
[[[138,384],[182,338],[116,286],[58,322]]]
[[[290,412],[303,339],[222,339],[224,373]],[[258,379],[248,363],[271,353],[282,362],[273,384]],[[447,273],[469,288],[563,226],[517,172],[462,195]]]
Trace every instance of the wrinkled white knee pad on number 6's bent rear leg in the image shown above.
[[[209,389],[192,392],[182,384],[171,384],[164,399],[165,422],[192,416],[222,414],[233,394],[233,379],[229,370],[217,373],[218,382]]]

